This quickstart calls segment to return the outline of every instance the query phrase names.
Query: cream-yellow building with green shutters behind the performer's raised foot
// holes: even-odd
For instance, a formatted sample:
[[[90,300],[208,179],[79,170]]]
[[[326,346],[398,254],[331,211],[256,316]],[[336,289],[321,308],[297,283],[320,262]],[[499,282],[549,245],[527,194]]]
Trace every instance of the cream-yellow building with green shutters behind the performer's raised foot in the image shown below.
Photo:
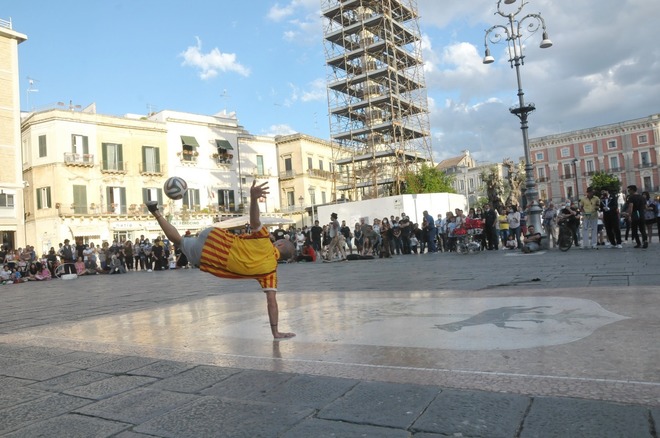
[[[50,109],[22,123],[27,241],[38,254],[68,238],[133,240],[161,234],[144,207],[162,202],[165,125],[139,118]]]

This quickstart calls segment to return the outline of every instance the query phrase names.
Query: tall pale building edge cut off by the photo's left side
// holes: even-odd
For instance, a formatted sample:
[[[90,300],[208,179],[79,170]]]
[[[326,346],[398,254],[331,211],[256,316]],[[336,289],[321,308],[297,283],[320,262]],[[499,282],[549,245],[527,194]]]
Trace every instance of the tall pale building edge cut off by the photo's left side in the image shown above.
[[[25,40],[11,21],[0,19],[0,244],[10,249],[26,244],[18,90],[18,45]]]

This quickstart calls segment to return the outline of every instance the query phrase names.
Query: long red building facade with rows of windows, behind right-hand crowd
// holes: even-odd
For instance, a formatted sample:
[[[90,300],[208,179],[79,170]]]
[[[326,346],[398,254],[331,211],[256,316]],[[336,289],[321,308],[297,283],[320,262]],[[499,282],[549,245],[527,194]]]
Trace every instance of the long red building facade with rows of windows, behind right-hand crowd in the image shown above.
[[[660,192],[660,114],[530,139],[534,176],[542,201],[577,199],[596,172],[621,186]]]

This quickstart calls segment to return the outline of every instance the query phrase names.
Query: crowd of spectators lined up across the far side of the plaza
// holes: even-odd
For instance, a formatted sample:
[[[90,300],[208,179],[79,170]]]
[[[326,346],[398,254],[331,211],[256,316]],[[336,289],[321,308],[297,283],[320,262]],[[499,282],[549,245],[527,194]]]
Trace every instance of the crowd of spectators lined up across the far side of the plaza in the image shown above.
[[[470,208],[467,214],[457,208],[446,212],[444,217],[438,214],[434,218],[424,211],[421,224],[401,213],[375,218],[371,223],[362,218],[350,227],[332,213],[330,222],[323,226],[316,220],[311,227],[277,228],[271,239],[290,240],[296,253],[289,261],[298,262],[454,252],[466,229],[474,231],[471,239],[478,242],[481,250],[534,252],[542,247],[541,231],[548,239],[547,246],[557,247],[559,225],[563,223],[578,247],[621,248],[623,241],[632,237],[635,248],[647,248],[654,225],[660,239],[660,196],[652,198],[646,191],[638,194],[634,185],[628,186],[627,192],[623,204],[607,190],[595,193],[591,187],[579,201],[567,200],[559,205],[549,202],[543,206],[541,215],[543,230],[528,227],[526,212],[516,205],[495,209],[485,204]],[[187,236],[189,231],[184,238]],[[134,242],[103,242],[100,246],[72,244],[65,239],[58,249],[51,247],[41,256],[32,246],[16,250],[2,246],[0,261],[2,284],[49,280],[58,274],[124,274],[189,267],[185,254],[164,235],[153,242],[140,236]]]

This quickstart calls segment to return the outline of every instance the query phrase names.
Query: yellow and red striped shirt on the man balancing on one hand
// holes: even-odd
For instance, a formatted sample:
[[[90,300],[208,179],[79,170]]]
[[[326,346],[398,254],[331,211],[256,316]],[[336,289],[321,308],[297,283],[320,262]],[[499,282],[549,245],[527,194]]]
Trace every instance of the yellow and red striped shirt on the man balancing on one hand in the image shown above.
[[[279,256],[264,227],[241,235],[214,228],[204,242],[199,269],[222,278],[254,278],[262,289],[277,290]]]

